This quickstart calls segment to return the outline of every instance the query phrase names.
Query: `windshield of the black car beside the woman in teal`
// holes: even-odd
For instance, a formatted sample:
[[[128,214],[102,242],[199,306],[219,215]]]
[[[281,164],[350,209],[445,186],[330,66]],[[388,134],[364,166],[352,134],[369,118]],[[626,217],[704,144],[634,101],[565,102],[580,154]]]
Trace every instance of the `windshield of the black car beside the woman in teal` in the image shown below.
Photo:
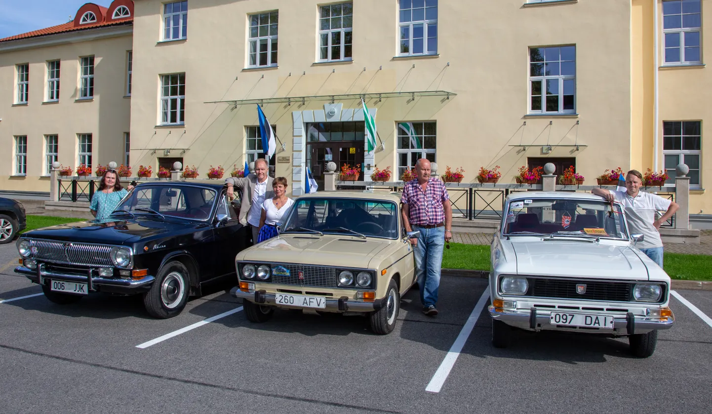
[[[206,220],[216,192],[193,186],[138,186],[112,213],[112,216],[180,217]]]

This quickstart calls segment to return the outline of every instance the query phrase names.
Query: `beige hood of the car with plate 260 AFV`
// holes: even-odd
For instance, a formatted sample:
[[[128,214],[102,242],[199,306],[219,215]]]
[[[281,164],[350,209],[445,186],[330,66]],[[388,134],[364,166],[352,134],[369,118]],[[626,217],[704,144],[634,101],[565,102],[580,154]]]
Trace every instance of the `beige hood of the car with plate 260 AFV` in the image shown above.
[[[370,268],[393,240],[343,235],[281,235],[238,253],[237,261]]]

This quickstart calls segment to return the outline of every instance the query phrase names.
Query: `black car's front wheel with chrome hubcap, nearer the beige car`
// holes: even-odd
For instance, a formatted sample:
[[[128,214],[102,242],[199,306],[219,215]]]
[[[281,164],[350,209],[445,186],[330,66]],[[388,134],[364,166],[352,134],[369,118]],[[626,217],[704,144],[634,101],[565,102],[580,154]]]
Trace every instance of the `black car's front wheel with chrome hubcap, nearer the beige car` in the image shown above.
[[[190,275],[181,262],[167,262],[158,271],[151,290],[143,294],[143,306],[152,317],[168,319],[180,314],[188,302]]]

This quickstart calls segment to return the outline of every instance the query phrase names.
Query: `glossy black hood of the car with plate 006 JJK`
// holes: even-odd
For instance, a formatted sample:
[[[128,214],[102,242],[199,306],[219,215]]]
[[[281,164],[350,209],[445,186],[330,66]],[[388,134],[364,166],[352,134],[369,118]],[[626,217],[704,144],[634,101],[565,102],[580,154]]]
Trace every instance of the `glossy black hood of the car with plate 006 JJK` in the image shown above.
[[[111,221],[107,223],[82,221],[53,225],[24,233],[22,237],[121,245],[136,243],[140,240],[160,238],[165,233],[180,233],[194,228],[197,228],[197,224],[187,221],[162,222],[136,218],[128,221]]]

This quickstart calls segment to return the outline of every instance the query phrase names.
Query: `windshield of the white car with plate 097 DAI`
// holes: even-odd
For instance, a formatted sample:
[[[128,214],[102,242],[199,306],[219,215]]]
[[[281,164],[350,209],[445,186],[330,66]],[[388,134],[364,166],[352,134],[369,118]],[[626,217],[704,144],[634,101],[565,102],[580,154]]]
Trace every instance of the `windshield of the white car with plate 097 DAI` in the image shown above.
[[[505,235],[541,233],[628,238],[620,206],[606,201],[520,198],[509,203],[505,223]]]

